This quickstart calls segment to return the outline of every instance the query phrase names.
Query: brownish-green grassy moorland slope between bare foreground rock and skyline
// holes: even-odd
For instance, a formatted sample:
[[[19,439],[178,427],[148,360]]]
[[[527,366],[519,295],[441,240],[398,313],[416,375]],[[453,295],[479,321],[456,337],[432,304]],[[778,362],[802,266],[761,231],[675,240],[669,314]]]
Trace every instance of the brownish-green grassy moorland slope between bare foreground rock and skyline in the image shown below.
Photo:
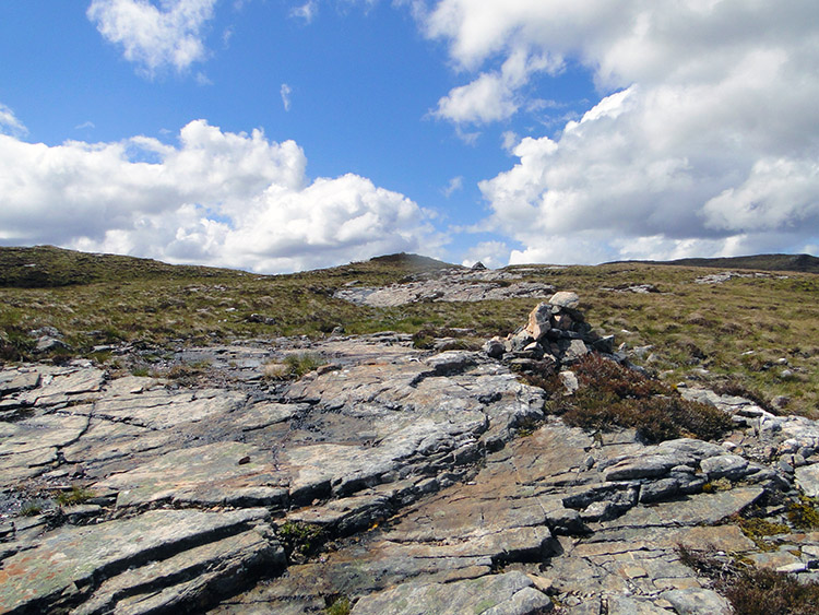
[[[31,264],[36,267],[26,267]],[[5,347],[7,358],[26,358],[26,332],[44,326],[56,327],[79,354],[92,356],[94,345],[117,341],[168,346],[235,338],[320,336],[336,326],[348,333],[466,327],[486,338],[525,322],[533,299],[368,308],[332,297],[345,284],[384,285],[442,267],[448,265],[399,255],[266,276],[56,248],[0,248],[7,286],[0,284],[0,347]],[[732,380],[768,399],[788,395],[790,411],[812,412],[819,404],[819,276],[788,273],[704,285],[695,280],[712,271],[679,265],[631,262],[509,270],[578,292],[592,324],[615,334],[618,343],[653,345],[650,365],[669,379],[704,367],[708,379]],[[661,293],[603,289],[630,283],[655,284]],[[274,322],[248,322],[251,314]],[[15,356],[11,351],[20,352]],[[776,365],[783,358],[793,371],[790,378],[782,378],[785,366]]]

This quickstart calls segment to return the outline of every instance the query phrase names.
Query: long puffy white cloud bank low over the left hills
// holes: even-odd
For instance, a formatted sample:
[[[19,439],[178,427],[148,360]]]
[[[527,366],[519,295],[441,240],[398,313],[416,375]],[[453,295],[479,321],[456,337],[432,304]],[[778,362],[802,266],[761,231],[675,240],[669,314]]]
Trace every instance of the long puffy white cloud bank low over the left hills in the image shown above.
[[[185,126],[177,145],[0,135],[0,243],[259,272],[440,246],[430,216],[403,194],[356,175],[309,181],[306,165],[294,141],[204,120]]]

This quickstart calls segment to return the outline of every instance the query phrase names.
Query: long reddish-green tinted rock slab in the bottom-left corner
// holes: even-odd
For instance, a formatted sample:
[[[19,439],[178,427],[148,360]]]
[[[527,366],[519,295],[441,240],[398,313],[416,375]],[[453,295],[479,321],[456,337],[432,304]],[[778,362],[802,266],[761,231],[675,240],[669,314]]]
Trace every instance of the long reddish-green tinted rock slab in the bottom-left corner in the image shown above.
[[[132,519],[55,530],[3,561],[0,612],[47,612],[72,588],[93,589],[102,577],[177,555],[219,533],[239,533],[268,518],[264,509],[153,510]]]

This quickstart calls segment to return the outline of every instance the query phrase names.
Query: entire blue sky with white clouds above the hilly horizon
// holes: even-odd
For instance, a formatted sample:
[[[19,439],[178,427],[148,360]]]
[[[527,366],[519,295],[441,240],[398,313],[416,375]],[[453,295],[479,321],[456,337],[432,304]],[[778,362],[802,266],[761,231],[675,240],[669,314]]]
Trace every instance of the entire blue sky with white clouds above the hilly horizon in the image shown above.
[[[0,2],[0,245],[819,253],[816,0]]]

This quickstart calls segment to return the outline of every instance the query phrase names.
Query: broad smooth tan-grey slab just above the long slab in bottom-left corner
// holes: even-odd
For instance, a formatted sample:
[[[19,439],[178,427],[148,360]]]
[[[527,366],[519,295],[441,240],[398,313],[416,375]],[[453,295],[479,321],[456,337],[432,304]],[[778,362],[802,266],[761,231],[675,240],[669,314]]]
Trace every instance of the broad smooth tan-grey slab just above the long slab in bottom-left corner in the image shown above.
[[[118,507],[169,500],[218,505],[247,497],[241,489],[276,487],[282,482],[286,476],[275,470],[268,453],[226,441],[173,450],[91,488],[118,492]]]

